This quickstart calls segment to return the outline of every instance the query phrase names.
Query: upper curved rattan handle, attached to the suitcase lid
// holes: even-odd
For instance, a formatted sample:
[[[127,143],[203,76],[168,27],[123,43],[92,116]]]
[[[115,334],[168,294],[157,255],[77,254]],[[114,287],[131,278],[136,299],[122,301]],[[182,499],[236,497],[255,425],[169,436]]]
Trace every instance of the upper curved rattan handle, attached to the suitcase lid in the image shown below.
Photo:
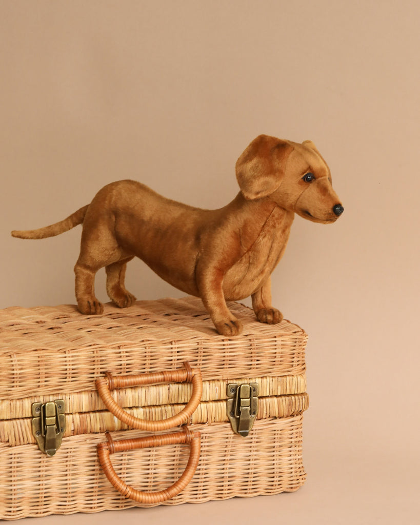
[[[151,430],[152,432],[166,430],[187,422],[188,418],[191,417],[191,414],[195,411],[201,400],[201,394],[203,392],[201,371],[199,369],[192,369],[188,362],[185,362],[184,366],[185,369],[180,370],[170,370],[153,374],[120,375],[118,377],[114,377],[107,372],[106,377],[100,377],[96,380],[96,388],[108,410],[123,423],[133,428]],[[192,383],[193,392],[190,401],[188,401],[181,412],[178,412],[167,419],[160,419],[159,421],[146,421],[145,419],[132,416],[113,400],[110,392],[110,390],[114,390],[114,388],[128,388],[130,386],[171,382]]]

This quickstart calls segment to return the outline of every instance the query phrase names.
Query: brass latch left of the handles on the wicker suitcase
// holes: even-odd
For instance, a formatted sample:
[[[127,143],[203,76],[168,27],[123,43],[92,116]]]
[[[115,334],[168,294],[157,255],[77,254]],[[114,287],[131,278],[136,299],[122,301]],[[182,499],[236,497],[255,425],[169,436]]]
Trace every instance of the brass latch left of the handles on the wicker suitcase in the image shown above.
[[[64,400],[32,404],[32,433],[41,451],[54,456],[60,448],[66,430],[66,404]]]

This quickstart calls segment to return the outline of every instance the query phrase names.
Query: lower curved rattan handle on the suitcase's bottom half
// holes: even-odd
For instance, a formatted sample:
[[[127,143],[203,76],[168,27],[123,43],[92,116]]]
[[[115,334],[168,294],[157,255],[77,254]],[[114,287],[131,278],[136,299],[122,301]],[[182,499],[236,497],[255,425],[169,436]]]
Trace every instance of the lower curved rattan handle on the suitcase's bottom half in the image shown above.
[[[137,439],[122,439],[114,441],[110,434],[107,433],[106,436],[108,438],[108,443],[99,443],[98,445],[99,462],[111,484],[126,498],[138,501],[139,503],[152,505],[155,503],[161,503],[162,501],[174,498],[184,490],[195,474],[201,448],[199,432],[190,432],[190,430],[184,427],[184,432],[175,432],[173,434],[163,434],[160,436],[139,437]],[[173,445],[175,443],[190,445],[190,457],[188,458],[187,466],[181,477],[175,481],[173,485],[157,492],[142,492],[127,485],[117,475],[109,458],[111,454],[116,452],[134,450],[137,448],[160,447],[163,445]]]

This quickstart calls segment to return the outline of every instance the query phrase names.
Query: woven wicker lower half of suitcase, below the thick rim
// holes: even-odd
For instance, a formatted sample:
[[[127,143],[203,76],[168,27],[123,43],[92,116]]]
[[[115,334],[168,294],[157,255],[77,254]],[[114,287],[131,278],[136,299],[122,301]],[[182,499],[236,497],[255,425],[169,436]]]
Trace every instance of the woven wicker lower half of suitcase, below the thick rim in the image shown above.
[[[305,479],[302,416],[264,419],[254,427],[245,439],[233,434],[227,423],[193,425],[202,436],[197,470],[180,495],[163,505],[297,490]],[[130,432],[130,437],[143,435],[140,430]],[[112,436],[123,439],[127,432]],[[3,449],[0,517],[16,519],[140,506],[116,492],[100,469],[96,447],[103,440],[102,434],[70,437],[63,440],[59,454],[53,458],[32,445]],[[113,455],[112,464],[131,486],[156,491],[180,477],[188,453],[183,445],[133,450]]]

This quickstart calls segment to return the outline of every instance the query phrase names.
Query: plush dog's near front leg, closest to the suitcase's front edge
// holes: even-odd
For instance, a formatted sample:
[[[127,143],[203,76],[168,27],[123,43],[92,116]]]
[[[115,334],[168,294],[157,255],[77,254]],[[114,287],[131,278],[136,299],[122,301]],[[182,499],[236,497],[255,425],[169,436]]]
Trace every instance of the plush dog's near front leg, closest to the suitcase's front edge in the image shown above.
[[[223,271],[198,269],[196,282],[200,297],[219,334],[238,335],[242,331],[242,323],[227,308],[223,293]]]

